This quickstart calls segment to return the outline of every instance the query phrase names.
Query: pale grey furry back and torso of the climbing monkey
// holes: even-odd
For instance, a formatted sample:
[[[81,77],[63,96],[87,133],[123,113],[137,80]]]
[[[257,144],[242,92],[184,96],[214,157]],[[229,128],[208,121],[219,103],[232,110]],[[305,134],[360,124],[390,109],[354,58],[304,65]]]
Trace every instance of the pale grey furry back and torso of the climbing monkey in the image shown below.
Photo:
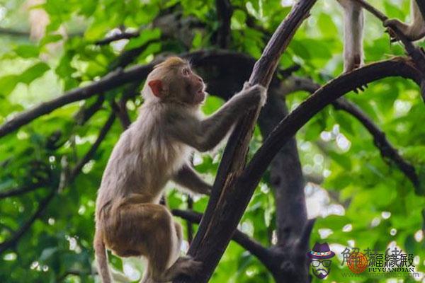
[[[158,202],[167,181],[187,160],[191,148],[171,139],[164,129],[168,105],[148,103],[121,134],[112,151],[98,190],[96,216],[106,204],[118,203],[129,195],[143,195]]]

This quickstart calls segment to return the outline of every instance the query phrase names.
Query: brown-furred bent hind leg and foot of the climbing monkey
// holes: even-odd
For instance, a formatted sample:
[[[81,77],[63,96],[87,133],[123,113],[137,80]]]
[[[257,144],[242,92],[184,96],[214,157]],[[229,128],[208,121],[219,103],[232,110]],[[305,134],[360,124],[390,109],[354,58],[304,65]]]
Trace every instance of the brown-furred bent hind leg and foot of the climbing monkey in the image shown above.
[[[194,275],[200,263],[181,257],[181,226],[166,207],[159,204],[129,204],[123,207],[126,242],[145,255],[147,272],[142,283],[170,282],[180,275]],[[123,220],[124,221],[124,220]],[[130,235],[131,234],[131,235]]]

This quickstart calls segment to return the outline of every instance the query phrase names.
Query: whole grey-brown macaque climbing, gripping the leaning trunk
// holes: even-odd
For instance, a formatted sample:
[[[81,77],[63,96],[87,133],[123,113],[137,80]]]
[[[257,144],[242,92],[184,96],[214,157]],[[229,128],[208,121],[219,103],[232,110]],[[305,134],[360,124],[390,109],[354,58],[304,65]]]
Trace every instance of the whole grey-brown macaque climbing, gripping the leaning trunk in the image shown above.
[[[94,250],[103,283],[111,282],[106,248],[120,257],[147,258],[143,283],[194,275],[200,262],[180,256],[181,226],[159,204],[169,180],[209,194],[188,165],[191,151],[213,149],[238,118],[266,101],[263,86],[244,86],[215,114],[203,118],[205,84],[188,62],[171,57],[147,76],[145,102],[137,120],[121,135],[98,190]]]

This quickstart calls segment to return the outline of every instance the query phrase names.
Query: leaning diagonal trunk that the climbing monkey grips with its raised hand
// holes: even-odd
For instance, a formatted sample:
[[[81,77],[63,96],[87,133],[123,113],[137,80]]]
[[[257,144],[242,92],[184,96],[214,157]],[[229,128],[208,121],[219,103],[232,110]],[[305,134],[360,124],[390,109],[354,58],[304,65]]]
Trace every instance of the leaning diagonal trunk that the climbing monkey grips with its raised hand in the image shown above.
[[[280,23],[259,61],[254,65],[249,79],[251,85],[261,83],[263,86],[268,86],[276,70],[280,54],[288,46],[295,30],[307,18],[315,2],[316,0],[298,1],[288,17]],[[249,202],[249,198],[246,202],[234,202],[233,207],[227,209],[227,200],[232,200],[232,196],[237,194],[233,190],[234,180],[244,168],[249,140],[258,115],[259,109],[249,111],[235,127],[227,143],[205,216],[188,251],[189,255],[204,263],[203,274],[183,282],[208,281]],[[211,249],[211,246],[215,248]]]

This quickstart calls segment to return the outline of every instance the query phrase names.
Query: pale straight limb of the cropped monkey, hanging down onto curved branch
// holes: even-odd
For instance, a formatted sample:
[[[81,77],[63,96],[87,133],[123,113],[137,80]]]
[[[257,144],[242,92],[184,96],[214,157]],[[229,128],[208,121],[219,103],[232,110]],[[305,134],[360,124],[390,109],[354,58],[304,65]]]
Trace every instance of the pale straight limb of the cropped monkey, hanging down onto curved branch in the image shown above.
[[[353,0],[338,0],[344,9],[344,72],[363,65],[363,8]]]

